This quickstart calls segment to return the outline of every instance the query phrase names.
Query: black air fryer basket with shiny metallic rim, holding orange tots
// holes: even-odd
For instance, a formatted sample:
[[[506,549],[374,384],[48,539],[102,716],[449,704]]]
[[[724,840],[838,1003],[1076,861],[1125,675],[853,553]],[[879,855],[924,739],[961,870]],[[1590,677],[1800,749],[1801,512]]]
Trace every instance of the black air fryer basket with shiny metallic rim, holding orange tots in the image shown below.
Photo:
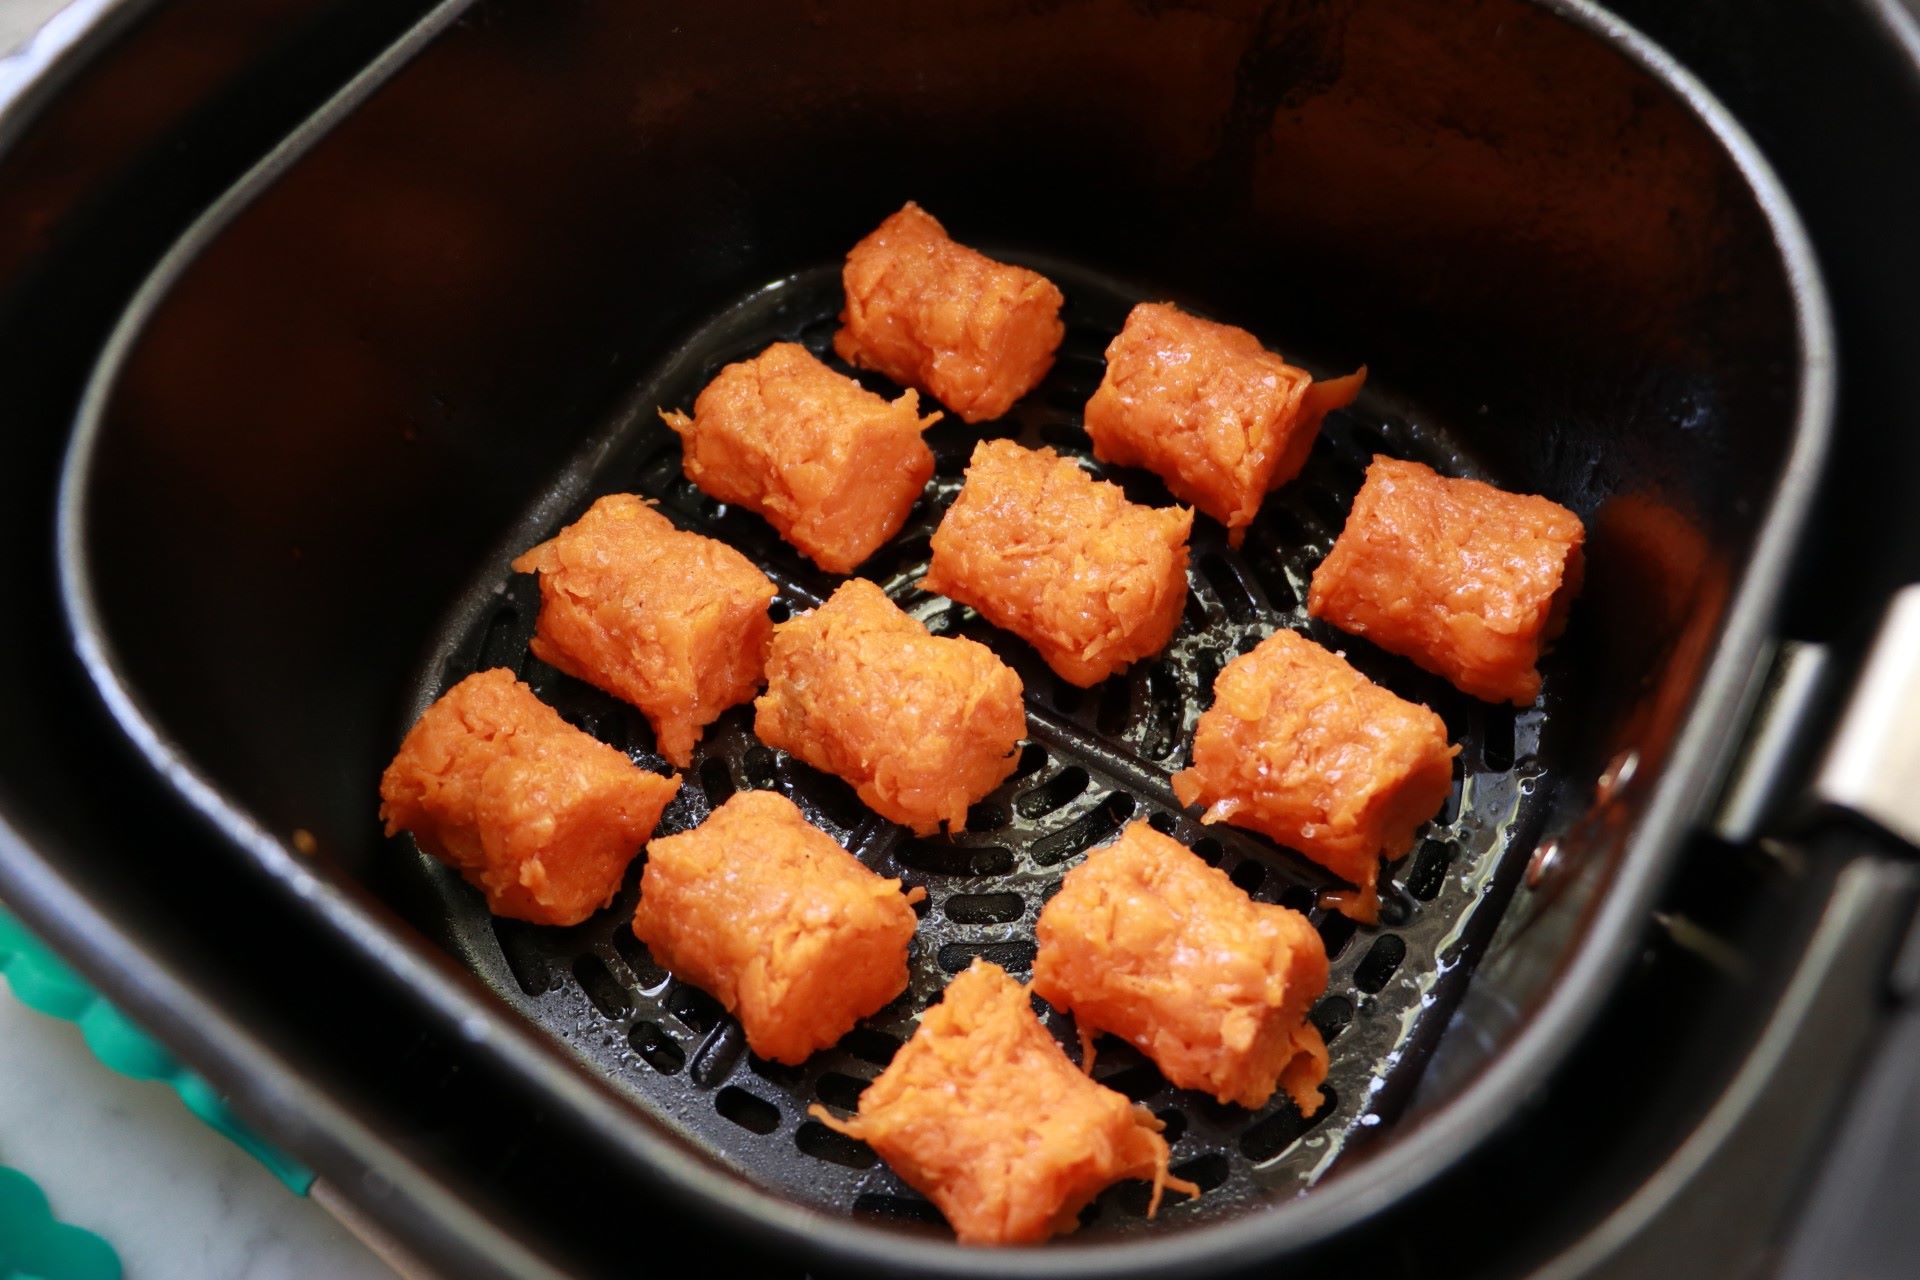
[[[1425,1173],[1498,1115],[1490,1084],[1549,1067],[1538,1034],[1530,1052],[1503,1042],[1521,1031],[1453,1036],[1444,1086],[1402,1115],[1496,927],[1494,996],[1521,1027],[1557,1007],[1565,1032],[1571,1002],[1590,1007],[1617,965],[1634,902],[1711,793],[1822,430],[1797,232],[1738,138],[1653,73],[1670,69],[1649,71],[1586,10],[1513,0],[453,8],[463,21],[182,242],[123,324],[69,461],[83,656],[198,804],[367,946],[413,956],[432,940],[499,998],[409,961],[436,1015],[493,1027],[511,1007],[611,1082],[630,1105],[601,1113],[620,1130],[609,1159],[678,1171],[708,1209],[843,1257],[1244,1257],[1256,1236],[1306,1238],[1342,1192],[1357,1213],[1369,1180],[1405,1186],[1409,1161]],[[505,568],[599,493],[659,497],[741,547],[780,585],[776,608],[831,591],[753,516],[680,480],[653,409],[689,405],[768,342],[826,351],[837,255],[906,198],[1069,299],[1048,382],[996,424],[933,428],[927,497],[862,568],[935,631],[1020,670],[1031,743],[966,835],[916,841],[758,747],[745,710],[708,735],[664,829],[778,787],[929,890],[908,994],[785,1069],[745,1054],[636,944],[637,865],[586,925],[495,923],[380,839],[374,781],[411,716],[484,666],[520,670],[574,723],[664,768],[637,712],[528,658],[532,583]],[[1375,378],[1244,549],[1200,522],[1167,654],[1081,693],[914,581],[973,439],[1085,457],[1079,407],[1142,297]],[[1375,451],[1588,520],[1590,585],[1534,708],[1473,702],[1308,624],[1306,576]],[[1169,501],[1150,476],[1112,478]],[[1317,908],[1325,873],[1200,827],[1165,783],[1219,664],[1279,626],[1344,649],[1465,743],[1379,927]],[[1106,1052],[1100,1077],[1167,1121],[1175,1169],[1206,1188],[1148,1228],[1185,1251],[1102,1249],[1144,1226],[1137,1188],[1117,1188],[1043,1255],[966,1255],[806,1103],[851,1105],[972,956],[1025,969],[1060,873],[1133,818],[1311,912],[1334,956],[1315,1009],[1329,1102],[1244,1113]],[[319,848],[305,865],[296,831]],[[1557,873],[1523,887],[1546,833]]]

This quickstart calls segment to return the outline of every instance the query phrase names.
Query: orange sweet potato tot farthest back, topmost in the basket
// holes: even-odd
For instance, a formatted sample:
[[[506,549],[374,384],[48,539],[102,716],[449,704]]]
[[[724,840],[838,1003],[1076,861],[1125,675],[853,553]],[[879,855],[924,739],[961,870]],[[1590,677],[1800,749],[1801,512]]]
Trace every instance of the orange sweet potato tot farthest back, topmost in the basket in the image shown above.
[[[841,280],[839,357],[964,422],[998,418],[1039,386],[1066,332],[1052,280],[954,244],[912,201],[852,248]]]

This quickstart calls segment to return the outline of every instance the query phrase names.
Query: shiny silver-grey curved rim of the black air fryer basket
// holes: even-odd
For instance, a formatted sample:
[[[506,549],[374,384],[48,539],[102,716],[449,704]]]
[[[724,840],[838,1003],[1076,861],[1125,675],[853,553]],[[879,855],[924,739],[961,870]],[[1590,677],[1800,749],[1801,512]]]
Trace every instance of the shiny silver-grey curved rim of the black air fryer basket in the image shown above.
[[[730,1226],[745,1226],[774,1247],[801,1247],[822,1261],[977,1276],[1177,1274],[1250,1263],[1288,1245],[1331,1236],[1405,1197],[1459,1161],[1480,1136],[1500,1126],[1513,1100],[1551,1071],[1597,1013],[1632,954],[1640,925],[1665,879],[1665,867],[1711,793],[1707,783],[1720,775],[1732,756],[1734,735],[1726,733],[1726,725],[1741,720],[1755,687],[1763,645],[1768,639],[1788,560],[1799,541],[1832,426],[1834,340],[1826,292],[1799,217],[1753,140],[1701,83],[1615,15],[1588,0],[1528,2],[1605,42],[1659,81],[1716,138],[1745,180],[1772,230],[1793,296],[1801,345],[1793,441],[1759,526],[1753,557],[1728,604],[1716,651],[1676,733],[1668,764],[1649,794],[1640,829],[1620,856],[1615,885],[1597,906],[1565,975],[1484,1073],[1446,1107],[1396,1136],[1392,1159],[1367,1161],[1346,1176],[1315,1188],[1311,1196],[1179,1234],[1071,1249],[1000,1251],[962,1249],[945,1240],[910,1238],[787,1203],[691,1155],[651,1126],[636,1125],[626,1102],[588,1071],[566,1061],[509,1009],[482,998],[476,983],[461,981],[447,967],[417,954],[351,896],[303,865],[204,775],[152,718],[106,635],[92,593],[86,547],[90,472],[117,372],[173,282],[227,223],[336,121],[472,8],[474,0],[447,0],[376,58],[215,201],[156,265],[129,303],[88,378],[61,470],[58,572],[73,647],[119,729],[150,768],[215,831],[246,850],[292,900],[309,904],[328,927],[407,983],[444,1027],[463,1040],[490,1044],[530,1086],[603,1132],[636,1173],[701,1215],[724,1217]]]

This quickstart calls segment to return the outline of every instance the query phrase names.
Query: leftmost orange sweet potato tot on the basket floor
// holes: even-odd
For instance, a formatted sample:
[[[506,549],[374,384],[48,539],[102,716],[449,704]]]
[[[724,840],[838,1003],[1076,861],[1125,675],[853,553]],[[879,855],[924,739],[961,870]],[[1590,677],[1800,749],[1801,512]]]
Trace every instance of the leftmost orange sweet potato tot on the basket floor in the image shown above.
[[[678,777],[634,768],[495,668],[407,731],[380,777],[380,818],[486,892],[495,915],[578,925],[612,902],[676,791]]]

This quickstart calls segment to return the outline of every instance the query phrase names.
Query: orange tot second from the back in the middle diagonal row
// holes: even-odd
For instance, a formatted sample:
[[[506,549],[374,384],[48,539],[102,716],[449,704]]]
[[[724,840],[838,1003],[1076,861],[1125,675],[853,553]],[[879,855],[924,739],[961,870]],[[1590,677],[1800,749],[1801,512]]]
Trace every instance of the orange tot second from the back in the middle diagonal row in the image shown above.
[[[1187,509],[1129,503],[1052,449],[973,445],[922,587],[972,604],[1087,687],[1160,652],[1187,604]]]

